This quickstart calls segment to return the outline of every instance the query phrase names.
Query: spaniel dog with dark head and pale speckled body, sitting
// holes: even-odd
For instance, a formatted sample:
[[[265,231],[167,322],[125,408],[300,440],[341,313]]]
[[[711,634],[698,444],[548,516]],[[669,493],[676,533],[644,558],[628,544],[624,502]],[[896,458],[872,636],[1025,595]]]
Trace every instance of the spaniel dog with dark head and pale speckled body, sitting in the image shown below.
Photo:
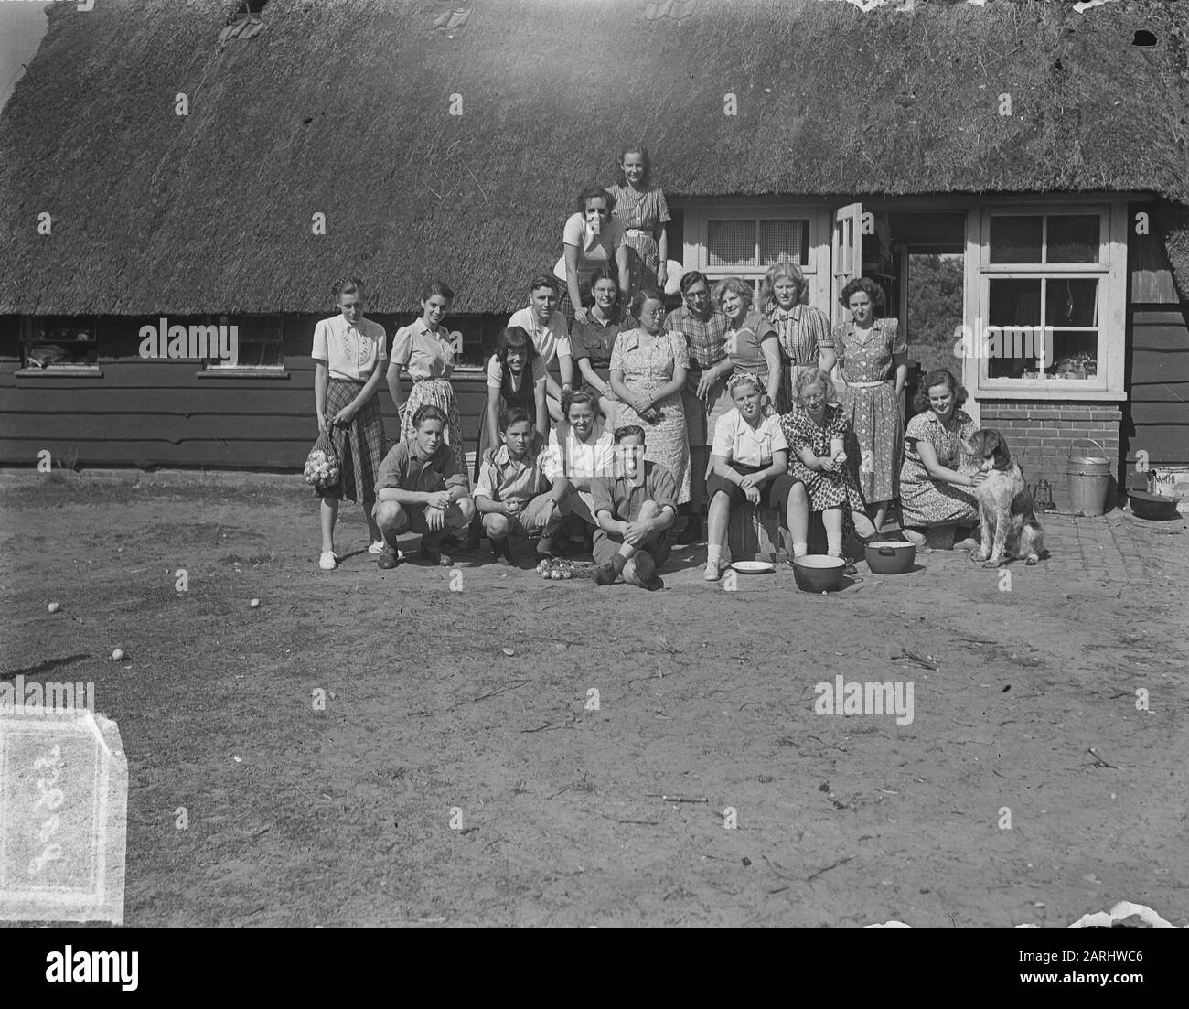
[[[1044,532],[1037,521],[1032,493],[1024,483],[1019,463],[1012,462],[1007,441],[998,431],[976,431],[965,445],[987,478],[974,488],[979,499],[982,543],[971,553],[983,568],[999,568],[1008,559],[1036,564],[1045,556]],[[1006,554],[1006,556],[1005,556]]]

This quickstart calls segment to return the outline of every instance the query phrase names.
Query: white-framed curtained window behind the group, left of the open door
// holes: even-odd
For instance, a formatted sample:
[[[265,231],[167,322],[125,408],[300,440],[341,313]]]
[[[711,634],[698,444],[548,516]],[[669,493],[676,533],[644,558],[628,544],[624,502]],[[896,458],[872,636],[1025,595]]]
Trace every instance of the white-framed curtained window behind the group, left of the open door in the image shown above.
[[[759,296],[765,272],[784,253],[812,290],[820,267],[819,215],[819,209],[776,205],[685,208],[684,265],[711,281],[742,277]],[[825,255],[828,269],[829,250]]]

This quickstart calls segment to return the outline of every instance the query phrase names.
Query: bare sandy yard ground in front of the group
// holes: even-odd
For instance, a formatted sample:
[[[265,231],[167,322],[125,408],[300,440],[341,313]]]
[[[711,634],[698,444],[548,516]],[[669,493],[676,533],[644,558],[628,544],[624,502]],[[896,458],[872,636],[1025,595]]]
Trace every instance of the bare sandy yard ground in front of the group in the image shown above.
[[[704,584],[704,547],[655,594],[380,572],[354,506],[323,574],[296,480],[0,506],[0,676],[120,727],[128,925],[1189,923],[1184,522],[1138,578],[931,553],[812,596]],[[816,713],[838,675],[911,682],[912,722]]]

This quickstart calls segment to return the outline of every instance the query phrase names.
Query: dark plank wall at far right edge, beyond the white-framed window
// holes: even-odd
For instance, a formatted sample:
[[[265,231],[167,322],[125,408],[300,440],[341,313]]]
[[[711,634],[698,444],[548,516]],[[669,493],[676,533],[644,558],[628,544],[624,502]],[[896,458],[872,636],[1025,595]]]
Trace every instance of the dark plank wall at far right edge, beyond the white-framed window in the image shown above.
[[[1144,487],[1135,453],[1153,464],[1189,464],[1189,305],[1179,297],[1164,251],[1156,205],[1132,205],[1151,214],[1150,236],[1131,236],[1131,346],[1127,355],[1130,400],[1121,441],[1127,485]],[[1189,278],[1185,278],[1189,282]]]

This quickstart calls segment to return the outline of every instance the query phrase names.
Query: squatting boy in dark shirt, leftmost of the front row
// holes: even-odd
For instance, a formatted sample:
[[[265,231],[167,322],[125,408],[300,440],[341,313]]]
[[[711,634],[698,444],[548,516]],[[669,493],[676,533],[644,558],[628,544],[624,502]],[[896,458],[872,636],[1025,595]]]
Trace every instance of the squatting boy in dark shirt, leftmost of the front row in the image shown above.
[[[452,562],[441,552],[447,532],[463,529],[474,516],[471,482],[446,444],[446,414],[426,403],[413,415],[413,433],[391,447],[376,475],[372,515],[384,537],[377,566],[397,565],[396,538],[421,533],[421,556],[434,564]]]

